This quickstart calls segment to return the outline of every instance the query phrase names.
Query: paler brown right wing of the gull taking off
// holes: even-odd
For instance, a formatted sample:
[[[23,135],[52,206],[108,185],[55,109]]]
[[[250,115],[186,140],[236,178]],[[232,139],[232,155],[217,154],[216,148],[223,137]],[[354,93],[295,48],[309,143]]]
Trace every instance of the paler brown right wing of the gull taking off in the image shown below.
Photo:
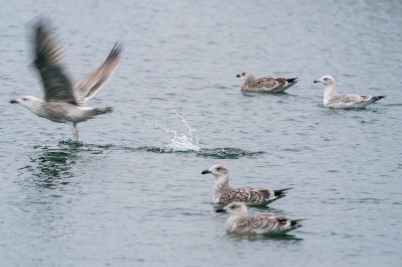
[[[95,72],[80,79],[74,85],[74,95],[79,104],[85,103],[92,98],[108,81],[111,79],[113,72],[119,65],[121,54],[123,52],[123,43],[116,43],[110,52],[104,64]]]

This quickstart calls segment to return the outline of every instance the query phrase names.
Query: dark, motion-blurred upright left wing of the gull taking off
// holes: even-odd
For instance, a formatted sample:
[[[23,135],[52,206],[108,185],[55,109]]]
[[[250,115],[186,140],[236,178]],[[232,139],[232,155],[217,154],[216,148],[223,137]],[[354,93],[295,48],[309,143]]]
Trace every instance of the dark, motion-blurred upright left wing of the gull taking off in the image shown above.
[[[61,67],[61,50],[55,37],[50,37],[45,22],[35,25],[35,66],[42,77],[46,101],[76,104],[72,85]]]

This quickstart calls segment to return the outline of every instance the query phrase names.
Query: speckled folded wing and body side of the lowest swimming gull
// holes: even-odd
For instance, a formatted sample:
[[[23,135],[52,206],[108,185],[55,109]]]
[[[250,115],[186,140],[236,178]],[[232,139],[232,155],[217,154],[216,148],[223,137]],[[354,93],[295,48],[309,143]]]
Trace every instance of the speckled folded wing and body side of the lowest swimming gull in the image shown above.
[[[244,217],[236,223],[239,233],[281,233],[293,229],[291,219],[275,215],[254,215]]]

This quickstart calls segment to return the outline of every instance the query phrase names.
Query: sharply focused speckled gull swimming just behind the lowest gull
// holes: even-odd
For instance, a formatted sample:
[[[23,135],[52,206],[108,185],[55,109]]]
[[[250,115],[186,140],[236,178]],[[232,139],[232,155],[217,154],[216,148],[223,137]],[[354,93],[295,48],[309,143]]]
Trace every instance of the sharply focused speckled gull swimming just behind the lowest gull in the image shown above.
[[[248,205],[267,205],[276,199],[284,197],[284,191],[254,189],[251,187],[233,188],[229,185],[229,171],[222,164],[214,165],[201,174],[212,173],[215,175],[214,204],[229,204],[233,201],[241,201]]]

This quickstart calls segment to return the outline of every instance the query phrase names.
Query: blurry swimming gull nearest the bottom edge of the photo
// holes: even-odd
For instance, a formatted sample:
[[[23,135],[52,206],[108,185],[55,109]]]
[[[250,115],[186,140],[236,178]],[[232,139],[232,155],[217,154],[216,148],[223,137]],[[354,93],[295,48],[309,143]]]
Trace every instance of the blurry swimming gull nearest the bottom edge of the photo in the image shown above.
[[[299,224],[300,220],[273,214],[247,216],[247,207],[242,202],[232,202],[217,212],[230,214],[226,224],[228,231],[234,233],[283,234],[302,226]]]

